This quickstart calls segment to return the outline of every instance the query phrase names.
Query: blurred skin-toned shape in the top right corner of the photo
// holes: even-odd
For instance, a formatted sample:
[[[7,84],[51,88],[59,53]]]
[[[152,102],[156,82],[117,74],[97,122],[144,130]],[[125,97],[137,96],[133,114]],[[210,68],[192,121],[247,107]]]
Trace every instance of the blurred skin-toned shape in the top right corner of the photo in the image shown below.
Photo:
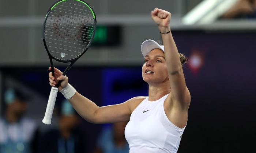
[[[222,19],[256,18],[256,0],[239,0],[222,15]]]

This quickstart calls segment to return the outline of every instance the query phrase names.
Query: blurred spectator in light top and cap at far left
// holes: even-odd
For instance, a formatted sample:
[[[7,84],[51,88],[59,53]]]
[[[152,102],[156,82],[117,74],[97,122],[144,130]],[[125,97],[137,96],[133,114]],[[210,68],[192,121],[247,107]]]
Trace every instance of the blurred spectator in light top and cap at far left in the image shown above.
[[[38,127],[26,112],[26,96],[18,90],[4,93],[5,115],[0,119],[0,153],[36,153]]]

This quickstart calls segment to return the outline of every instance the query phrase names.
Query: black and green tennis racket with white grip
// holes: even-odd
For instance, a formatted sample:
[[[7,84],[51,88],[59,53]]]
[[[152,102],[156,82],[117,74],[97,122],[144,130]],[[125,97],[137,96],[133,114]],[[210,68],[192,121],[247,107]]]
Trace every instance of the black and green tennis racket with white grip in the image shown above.
[[[96,29],[96,16],[93,8],[83,0],[59,0],[48,10],[44,26],[43,41],[49,55],[54,76],[52,59],[70,64],[63,75],[71,68],[92,43]],[[51,124],[52,113],[60,82],[52,87],[45,111],[45,124]]]

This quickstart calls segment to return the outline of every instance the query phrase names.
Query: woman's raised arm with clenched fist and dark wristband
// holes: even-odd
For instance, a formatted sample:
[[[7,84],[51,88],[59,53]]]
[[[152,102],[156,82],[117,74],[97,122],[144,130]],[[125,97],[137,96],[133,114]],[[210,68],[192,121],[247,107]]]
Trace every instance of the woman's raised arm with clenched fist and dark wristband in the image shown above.
[[[151,17],[157,23],[161,33],[167,33],[170,30],[171,13],[155,8],[151,12]],[[172,93],[172,101],[178,104],[180,109],[188,110],[190,103],[190,93],[186,87],[185,78],[180,62],[180,55],[173,40],[172,32],[161,34],[165,49],[165,60]]]

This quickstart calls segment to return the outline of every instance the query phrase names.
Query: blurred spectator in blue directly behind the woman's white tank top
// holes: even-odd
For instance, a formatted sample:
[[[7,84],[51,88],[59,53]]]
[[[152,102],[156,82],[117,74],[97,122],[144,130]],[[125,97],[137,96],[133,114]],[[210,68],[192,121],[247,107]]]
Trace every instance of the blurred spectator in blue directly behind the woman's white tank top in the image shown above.
[[[129,153],[129,144],[124,136],[127,122],[114,123],[113,128],[105,128],[99,135],[94,153]]]

